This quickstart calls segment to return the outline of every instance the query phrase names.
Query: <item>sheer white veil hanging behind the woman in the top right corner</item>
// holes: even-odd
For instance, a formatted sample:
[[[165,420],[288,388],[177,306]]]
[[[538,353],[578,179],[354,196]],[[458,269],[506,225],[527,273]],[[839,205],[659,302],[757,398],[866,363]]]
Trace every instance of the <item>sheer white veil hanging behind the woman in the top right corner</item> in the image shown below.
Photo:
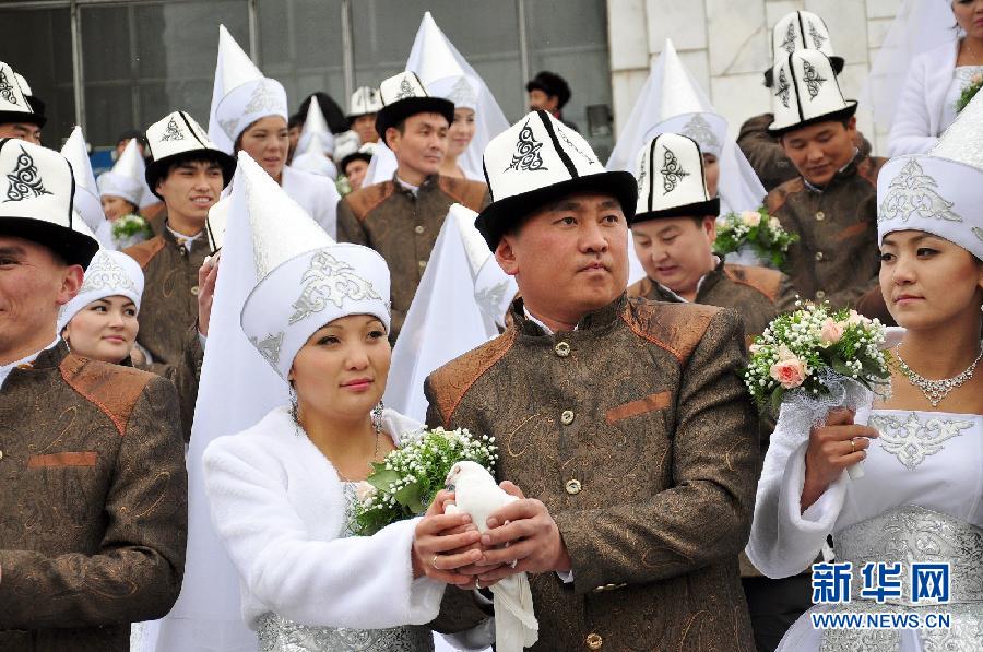
[[[878,130],[890,131],[912,59],[961,35],[949,0],[901,0],[861,93],[861,102],[871,106]]]

